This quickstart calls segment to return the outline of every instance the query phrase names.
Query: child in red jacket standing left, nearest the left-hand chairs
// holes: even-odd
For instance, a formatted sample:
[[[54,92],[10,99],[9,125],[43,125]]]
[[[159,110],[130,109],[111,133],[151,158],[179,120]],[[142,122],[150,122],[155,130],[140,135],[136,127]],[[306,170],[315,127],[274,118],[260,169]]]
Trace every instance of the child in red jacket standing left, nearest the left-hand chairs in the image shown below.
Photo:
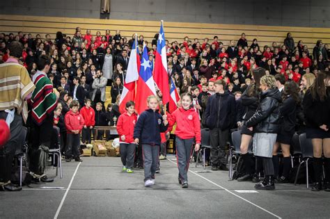
[[[74,161],[81,162],[80,159],[80,132],[84,127],[84,118],[80,115],[79,102],[73,100],[70,104],[70,111],[65,115],[65,127],[67,130],[67,146],[65,152],[65,161],[70,162],[72,156]]]

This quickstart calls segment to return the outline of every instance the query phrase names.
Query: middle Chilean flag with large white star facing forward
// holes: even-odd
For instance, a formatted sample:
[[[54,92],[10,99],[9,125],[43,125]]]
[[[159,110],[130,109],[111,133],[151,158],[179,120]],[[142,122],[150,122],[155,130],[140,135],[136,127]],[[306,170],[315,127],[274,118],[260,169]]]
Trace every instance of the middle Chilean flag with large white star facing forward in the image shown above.
[[[141,114],[148,108],[147,98],[150,95],[156,95],[156,88],[155,81],[152,77],[148,50],[146,44],[143,42],[143,54],[135,98],[135,109],[138,114]]]

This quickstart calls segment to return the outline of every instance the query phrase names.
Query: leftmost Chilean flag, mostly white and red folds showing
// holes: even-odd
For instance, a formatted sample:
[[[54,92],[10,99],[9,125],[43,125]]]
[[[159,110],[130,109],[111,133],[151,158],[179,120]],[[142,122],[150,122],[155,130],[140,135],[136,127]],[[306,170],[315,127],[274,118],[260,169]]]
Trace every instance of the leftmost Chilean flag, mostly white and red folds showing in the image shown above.
[[[129,101],[135,101],[135,88],[136,81],[139,80],[139,70],[140,70],[140,57],[136,52],[137,50],[137,42],[136,42],[136,34],[135,40],[133,43],[131,56],[129,57],[126,79],[124,81],[123,92],[120,96],[119,101],[119,111],[120,113],[124,113],[126,111],[125,106]]]

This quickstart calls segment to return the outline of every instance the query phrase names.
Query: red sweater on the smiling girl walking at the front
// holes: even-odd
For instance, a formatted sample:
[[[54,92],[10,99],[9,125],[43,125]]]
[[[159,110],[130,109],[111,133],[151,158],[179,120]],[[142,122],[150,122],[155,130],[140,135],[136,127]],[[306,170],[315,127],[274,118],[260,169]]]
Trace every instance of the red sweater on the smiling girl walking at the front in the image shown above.
[[[175,110],[168,122],[173,126],[176,122],[175,135],[182,139],[195,138],[196,143],[201,143],[201,121],[194,108],[184,110],[182,107]]]

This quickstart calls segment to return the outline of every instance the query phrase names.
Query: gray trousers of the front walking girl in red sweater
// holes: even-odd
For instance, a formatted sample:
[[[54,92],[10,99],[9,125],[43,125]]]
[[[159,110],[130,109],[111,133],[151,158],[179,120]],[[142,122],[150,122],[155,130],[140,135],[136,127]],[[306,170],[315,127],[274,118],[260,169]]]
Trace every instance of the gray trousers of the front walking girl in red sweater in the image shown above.
[[[179,178],[182,181],[188,181],[188,168],[191,152],[193,149],[194,138],[181,139],[175,138],[176,156],[178,159]]]

